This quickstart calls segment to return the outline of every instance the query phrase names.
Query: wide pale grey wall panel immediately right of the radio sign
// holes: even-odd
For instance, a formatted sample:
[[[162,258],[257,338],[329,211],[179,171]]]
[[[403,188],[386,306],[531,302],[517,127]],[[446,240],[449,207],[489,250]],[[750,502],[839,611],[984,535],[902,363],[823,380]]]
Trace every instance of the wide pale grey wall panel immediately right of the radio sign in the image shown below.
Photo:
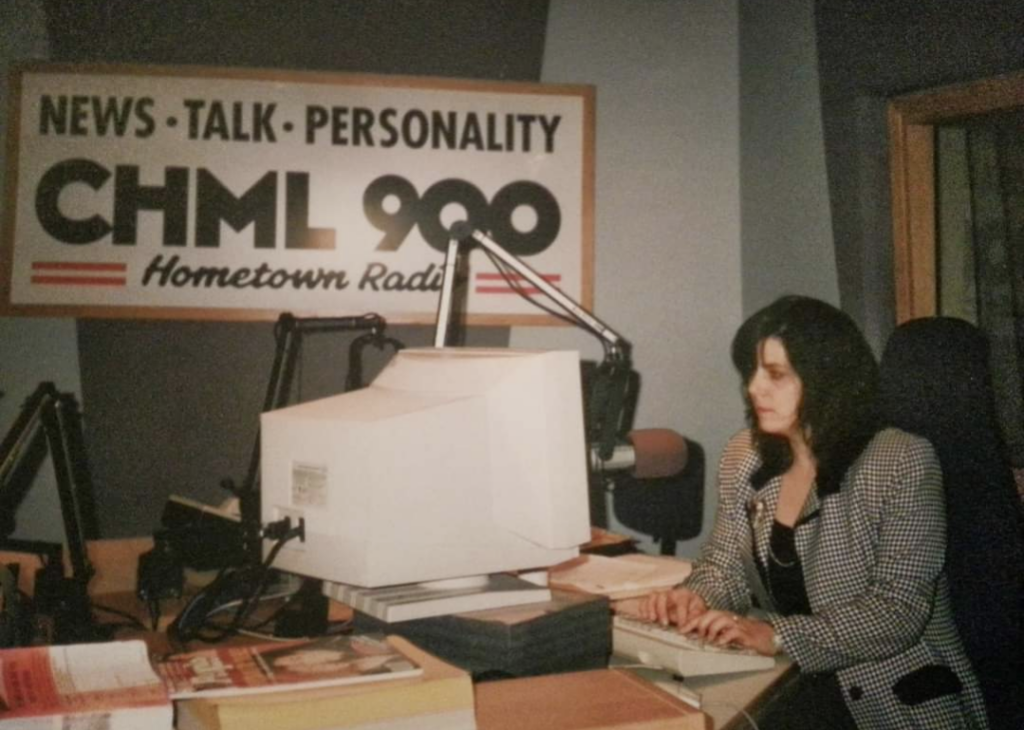
[[[634,344],[636,426],[674,428],[714,464],[742,425],[727,354],[741,316],[737,3],[555,0],[549,17],[543,80],[597,86],[595,309]],[[512,344],[598,356],[574,332],[520,328]]]

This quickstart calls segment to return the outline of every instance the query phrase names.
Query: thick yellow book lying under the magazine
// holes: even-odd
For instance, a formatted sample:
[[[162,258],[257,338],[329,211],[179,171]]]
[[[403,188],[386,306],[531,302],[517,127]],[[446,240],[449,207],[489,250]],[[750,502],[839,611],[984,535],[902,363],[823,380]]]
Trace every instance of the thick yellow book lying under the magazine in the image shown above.
[[[475,730],[469,674],[400,637],[419,677],[381,684],[177,700],[178,730]]]

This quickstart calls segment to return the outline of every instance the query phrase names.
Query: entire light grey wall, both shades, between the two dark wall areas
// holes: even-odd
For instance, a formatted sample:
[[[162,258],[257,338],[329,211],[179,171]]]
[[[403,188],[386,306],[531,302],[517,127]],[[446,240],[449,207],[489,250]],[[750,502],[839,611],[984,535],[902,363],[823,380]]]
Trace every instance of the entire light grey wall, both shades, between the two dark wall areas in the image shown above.
[[[635,344],[637,427],[705,447],[703,532],[679,548],[692,556],[743,426],[733,332],[781,294],[839,303],[813,2],[555,0],[543,80],[598,88],[596,309]],[[564,332],[520,328],[512,344],[567,334],[595,352]]]

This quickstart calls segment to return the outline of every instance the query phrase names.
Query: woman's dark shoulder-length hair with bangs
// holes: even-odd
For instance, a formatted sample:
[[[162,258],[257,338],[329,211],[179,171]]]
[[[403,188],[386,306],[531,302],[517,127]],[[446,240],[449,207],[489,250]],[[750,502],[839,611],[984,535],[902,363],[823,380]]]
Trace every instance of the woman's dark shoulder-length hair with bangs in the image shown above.
[[[800,427],[817,460],[818,496],[839,491],[843,475],[880,428],[879,366],[849,315],[817,299],[785,296],[753,314],[732,340],[732,362],[743,381],[746,420],[762,465],[759,489],[793,464],[787,439],[758,428],[746,385],[765,340],[777,338],[803,383]]]

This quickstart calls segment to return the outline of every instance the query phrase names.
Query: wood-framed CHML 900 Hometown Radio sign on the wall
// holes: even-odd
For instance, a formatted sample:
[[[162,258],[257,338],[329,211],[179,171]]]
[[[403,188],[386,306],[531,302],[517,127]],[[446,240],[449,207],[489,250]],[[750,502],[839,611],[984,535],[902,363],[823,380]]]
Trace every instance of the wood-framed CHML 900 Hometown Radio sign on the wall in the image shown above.
[[[0,313],[428,323],[459,220],[592,307],[592,87],[32,65],[11,93]],[[517,289],[472,252],[470,321],[553,319]]]

